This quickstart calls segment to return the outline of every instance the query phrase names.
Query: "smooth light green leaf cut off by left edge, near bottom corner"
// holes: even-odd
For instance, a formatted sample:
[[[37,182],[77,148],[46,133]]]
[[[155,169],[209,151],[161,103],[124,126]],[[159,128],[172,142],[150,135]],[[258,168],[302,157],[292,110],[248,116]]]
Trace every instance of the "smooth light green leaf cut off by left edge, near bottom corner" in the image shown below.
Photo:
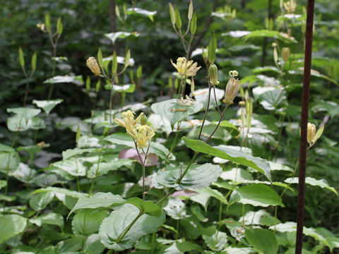
[[[6,239],[16,236],[25,230],[27,219],[16,214],[0,217],[0,243]]]

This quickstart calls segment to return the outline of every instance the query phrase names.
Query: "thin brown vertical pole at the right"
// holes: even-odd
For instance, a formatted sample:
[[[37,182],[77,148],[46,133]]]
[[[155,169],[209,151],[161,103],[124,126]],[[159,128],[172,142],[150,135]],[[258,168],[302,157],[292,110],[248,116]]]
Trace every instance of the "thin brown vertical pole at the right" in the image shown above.
[[[313,37],[314,0],[307,3],[307,23],[304,58],[304,85],[302,89],[302,120],[299,153],[299,188],[297,214],[297,240],[295,254],[302,254],[302,229],[304,226],[305,176],[307,157],[307,121],[309,118],[309,82],[311,78],[312,37]]]

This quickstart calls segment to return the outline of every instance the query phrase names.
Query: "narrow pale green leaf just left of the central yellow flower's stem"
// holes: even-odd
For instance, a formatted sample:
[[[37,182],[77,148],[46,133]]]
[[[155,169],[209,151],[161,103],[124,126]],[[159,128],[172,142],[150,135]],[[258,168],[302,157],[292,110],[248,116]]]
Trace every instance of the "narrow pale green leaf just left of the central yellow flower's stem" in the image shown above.
[[[93,179],[96,176],[102,176],[121,167],[131,167],[133,162],[132,159],[114,159],[112,162],[100,162],[99,166],[96,163],[87,171],[87,177]]]

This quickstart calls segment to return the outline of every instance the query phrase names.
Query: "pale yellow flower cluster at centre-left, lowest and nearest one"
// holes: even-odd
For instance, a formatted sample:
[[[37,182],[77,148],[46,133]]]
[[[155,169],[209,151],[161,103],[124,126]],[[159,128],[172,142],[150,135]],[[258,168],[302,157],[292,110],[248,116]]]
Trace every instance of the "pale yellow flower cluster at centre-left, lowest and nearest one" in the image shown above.
[[[155,135],[155,130],[147,123],[139,123],[143,123],[142,120],[145,119],[145,115],[143,113],[139,114],[139,116],[134,119],[135,114],[136,113],[131,110],[122,112],[122,120],[116,118],[114,119],[114,122],[119,126],[126,128],[126,133],[133,138],[139,148],[143,149],[144,147],[148,147],[150,144],[150,140],[152,140],[153,136]]]

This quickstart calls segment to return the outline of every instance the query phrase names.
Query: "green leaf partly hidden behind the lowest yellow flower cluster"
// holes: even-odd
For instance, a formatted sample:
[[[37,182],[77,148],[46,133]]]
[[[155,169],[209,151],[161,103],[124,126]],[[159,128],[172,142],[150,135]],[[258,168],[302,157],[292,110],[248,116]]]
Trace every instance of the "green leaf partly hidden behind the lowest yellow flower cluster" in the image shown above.
[[[107,136],[105,140],[113,144],[126,145],[127,147],[136,148],[133,142],[133,138],[125,133],[114,133]],[[169,154],[169,150],[160,143],[150,143],[150,150],[148,152],[158,155],[162,159],[168,161],[167,155]]]

